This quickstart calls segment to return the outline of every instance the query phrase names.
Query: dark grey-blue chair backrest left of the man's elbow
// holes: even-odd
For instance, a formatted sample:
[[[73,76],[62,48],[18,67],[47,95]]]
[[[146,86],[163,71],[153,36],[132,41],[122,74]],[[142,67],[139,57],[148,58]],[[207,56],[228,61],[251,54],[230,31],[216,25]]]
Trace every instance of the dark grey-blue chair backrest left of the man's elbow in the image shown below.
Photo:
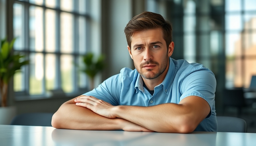
[[[13,118],[10,125],[51,126],[53,113],[24,113]]]

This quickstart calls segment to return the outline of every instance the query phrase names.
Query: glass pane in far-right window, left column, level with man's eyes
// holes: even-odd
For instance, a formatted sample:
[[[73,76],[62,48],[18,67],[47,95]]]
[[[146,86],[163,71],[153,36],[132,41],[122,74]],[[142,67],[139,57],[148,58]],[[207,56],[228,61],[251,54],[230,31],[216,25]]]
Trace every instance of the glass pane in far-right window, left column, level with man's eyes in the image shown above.
[[[241,34],[226,33],[226,50],[227,57],[241,56]]]

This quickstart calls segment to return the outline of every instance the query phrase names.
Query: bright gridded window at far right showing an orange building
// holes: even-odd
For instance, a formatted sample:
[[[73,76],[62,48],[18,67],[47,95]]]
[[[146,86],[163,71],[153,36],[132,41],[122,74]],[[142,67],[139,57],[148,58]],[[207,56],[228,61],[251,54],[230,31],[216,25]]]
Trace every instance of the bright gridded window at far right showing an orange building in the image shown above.
[[[226,87],[246,87],[256,75],[256,1],[225,1]]]

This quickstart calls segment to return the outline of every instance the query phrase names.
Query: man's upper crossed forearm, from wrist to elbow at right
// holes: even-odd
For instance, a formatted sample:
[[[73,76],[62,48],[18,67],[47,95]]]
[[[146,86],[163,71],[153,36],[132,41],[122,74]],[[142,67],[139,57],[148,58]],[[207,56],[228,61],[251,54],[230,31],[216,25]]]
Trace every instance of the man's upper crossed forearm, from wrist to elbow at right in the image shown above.
[[[180,105],[173,104],[171,106],[173,107],[170,108],[168,104],[152,107],[117,106],[114,113],[116,117],[129,120],[153,131],[186,133],[182,132],[182,125],[184,125],[182,122],[185,122],[184,115],[175,111],[175,108]]]

